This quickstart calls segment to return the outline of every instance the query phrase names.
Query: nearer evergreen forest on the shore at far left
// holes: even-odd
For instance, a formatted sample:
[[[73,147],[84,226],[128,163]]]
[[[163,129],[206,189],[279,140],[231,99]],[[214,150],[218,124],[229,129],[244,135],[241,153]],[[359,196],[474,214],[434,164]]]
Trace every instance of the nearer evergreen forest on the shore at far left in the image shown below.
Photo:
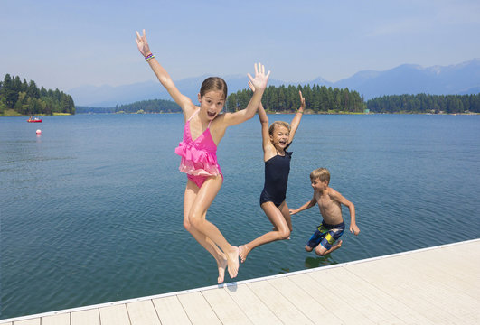
[[[22,81],[18,76],[6,74],[0,82],[0,116],[75,114],[73,98],[60,91],[38,88],[35,81]]]

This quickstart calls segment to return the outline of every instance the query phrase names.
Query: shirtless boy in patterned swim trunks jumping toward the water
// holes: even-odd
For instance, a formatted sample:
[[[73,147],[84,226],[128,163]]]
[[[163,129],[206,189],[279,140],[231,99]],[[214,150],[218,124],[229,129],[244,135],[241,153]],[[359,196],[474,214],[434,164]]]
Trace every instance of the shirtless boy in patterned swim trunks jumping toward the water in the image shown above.
[[[320,214],[324,218],[322,225],[318,226],[314,235],[306,243],[305,249],[311,252],[315,248],[316,255],[325,256],[342,246],[342,240],[336,245],[334,243],[344,234],[345,223],[342,218],[342,204],[350,210],[350,232],[355,236],[360,229],[355,222],[355,206],[346,200],[342,194],[328,186],[330,183],[330,172],[326,168],[318,168],[310,173],[310,181],[314,188],[314,197],[298,209],[290,210],[294,215],[305,209],[312,208],[315,203],[320,208]]]

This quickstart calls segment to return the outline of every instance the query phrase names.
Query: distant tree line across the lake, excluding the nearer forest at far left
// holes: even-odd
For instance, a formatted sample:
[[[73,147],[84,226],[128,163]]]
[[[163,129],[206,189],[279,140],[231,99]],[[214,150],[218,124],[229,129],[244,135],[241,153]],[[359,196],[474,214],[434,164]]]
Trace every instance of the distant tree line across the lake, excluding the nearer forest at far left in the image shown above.
[[[479,114],[480,93],[476,95],[389,95],[365,102],[356,91],[325,86],[270,86],[262,104],[268,113],[294,113],[300,107],[298,91],[306,98],[306,114]],[[234,112],[247,107],[251,90],[231,93],[224,110]],[[181,113],[171,100],[154,99],[116,107],[77,107],[78,113]]]

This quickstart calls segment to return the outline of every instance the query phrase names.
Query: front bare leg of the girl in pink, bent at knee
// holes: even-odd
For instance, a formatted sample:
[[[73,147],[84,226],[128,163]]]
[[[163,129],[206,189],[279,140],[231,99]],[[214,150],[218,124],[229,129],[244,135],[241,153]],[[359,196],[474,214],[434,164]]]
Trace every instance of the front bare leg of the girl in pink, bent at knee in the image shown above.
[[[215,196],[221,188],[221,182],[221,175],[218,175],[209,178],[203,183],[202,188],[198,190],[191,209],[188,212],[188,221],[190,222],[191,228],[194,228],[203,236],[210,238],[215,246],[221,248],[221,251],[227,259],[229,274],[231,278],[234,278],[239,272],[239,248],[237,246],[231,246],[225,237],[221,235],[220,230],[205,218],[206,211],[210,208],[213,199],[215,199]],[[215,255],[213,256],[215,257]],[[217,261],[219,260],[217,259]],[[221,277],[220,272],[221,265],[219,265],[219,281]]]

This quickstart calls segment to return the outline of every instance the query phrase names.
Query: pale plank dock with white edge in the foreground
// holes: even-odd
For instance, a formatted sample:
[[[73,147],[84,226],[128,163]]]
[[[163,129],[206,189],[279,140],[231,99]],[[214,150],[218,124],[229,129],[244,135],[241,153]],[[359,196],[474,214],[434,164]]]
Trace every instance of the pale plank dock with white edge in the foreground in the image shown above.
[[[480,324],[480,239],[9,325]]]

